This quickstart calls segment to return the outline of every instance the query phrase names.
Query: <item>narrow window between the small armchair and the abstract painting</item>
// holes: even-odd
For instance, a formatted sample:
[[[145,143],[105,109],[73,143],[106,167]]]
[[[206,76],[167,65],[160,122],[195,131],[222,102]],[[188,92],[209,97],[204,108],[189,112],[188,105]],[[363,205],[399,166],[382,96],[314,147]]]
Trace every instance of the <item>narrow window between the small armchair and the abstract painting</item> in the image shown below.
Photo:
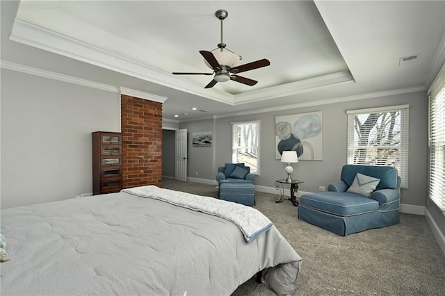
[[[232,123],[232,162],[259,174],[259,121]]]

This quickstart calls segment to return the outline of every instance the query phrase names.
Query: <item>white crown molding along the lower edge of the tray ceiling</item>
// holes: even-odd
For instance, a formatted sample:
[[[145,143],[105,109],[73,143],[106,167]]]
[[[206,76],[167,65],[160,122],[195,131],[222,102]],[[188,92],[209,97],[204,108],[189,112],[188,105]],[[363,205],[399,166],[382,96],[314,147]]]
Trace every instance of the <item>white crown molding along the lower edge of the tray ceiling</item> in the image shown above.
[[[77,25],[81,26],[81,24]],[[79,30],[89,31],[86,25],[83,25],[83,28],[79,28]],[[108,37],[113,38],[113,35]],[[116,51],[83,42],[69,35],[27,22],[24,19],[15,19],[10,40],[232,106],[311,92],[312,90],[324,88],[329,85],[354,81],[350,72],[339,72],[270,88],[252,90],[242,94],[229,94],[216,88],[204,89],[202,85],[195,81],[179,78],[170,72],[168,73],[147,65],[147,63],[136,58],[131,58],[124,54],[119,54]],[[116,40],[116,42],[120,44],[118,40]],[[122,43],[122,40],[120,40],[120,42]],[[128,44],[122,44],[122,46],[137,46],[129,41],[126,42],[128,42]]]

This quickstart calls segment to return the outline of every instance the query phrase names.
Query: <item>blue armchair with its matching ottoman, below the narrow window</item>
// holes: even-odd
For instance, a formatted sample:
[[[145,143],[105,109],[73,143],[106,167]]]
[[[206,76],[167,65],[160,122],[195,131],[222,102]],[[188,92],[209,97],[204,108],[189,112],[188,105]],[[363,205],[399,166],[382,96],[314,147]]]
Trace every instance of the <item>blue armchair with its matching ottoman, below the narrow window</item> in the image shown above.
[[[226,163],[218,167],[218,198],[246,206],[255,205],[254,174],[244,163]]]

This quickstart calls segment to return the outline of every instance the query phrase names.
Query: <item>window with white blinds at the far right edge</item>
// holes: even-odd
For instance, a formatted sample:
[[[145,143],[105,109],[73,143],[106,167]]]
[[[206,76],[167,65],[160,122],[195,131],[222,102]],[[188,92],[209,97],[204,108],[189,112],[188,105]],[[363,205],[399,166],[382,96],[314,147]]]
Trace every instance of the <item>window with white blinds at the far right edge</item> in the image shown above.
[[[429,92],[430,186],[428,197],[445,213],[445,65]]]

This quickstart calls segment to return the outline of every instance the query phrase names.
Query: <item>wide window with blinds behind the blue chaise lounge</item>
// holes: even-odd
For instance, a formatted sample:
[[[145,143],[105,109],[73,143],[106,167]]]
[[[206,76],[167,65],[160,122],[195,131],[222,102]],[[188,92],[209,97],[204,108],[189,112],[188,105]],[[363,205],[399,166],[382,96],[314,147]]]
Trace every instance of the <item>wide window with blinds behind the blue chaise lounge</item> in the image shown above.
[[[348,111],[348,164],[396,167],[408,188],[409,106]]]

